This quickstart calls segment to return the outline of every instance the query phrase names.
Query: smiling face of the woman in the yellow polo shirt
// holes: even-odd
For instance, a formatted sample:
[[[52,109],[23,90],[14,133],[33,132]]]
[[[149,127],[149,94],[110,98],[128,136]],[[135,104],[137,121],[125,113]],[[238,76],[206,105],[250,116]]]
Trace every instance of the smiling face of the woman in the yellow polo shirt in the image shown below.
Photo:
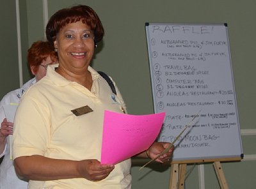
[[[84,73],[93,57],[93,32],[81,21],[67,24],[57,34],[54,47],[58,49],[61,69],[67,73]]]

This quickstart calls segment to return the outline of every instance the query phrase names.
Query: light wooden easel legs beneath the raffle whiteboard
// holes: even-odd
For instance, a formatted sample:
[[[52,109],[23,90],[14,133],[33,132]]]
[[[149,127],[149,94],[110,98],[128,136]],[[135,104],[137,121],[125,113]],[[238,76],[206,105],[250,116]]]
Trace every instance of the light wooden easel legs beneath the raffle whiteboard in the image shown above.
[[[223,169],[220,162],[213,162],[218,182],[221,189],[228,189]],[[173,163],[170,174],[170,189],[184,189],[187,163]]]

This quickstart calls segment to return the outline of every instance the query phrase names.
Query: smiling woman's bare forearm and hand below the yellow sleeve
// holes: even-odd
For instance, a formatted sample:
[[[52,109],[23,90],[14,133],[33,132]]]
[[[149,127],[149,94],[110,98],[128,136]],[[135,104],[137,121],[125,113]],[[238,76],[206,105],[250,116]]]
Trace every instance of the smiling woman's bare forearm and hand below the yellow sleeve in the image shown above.
[[[115,168],[114,165],[101,165],[98,160],[59,160],[40,155],[15,158],[14,166],[19,176],[38,181],[70,178],[100,181]]]

